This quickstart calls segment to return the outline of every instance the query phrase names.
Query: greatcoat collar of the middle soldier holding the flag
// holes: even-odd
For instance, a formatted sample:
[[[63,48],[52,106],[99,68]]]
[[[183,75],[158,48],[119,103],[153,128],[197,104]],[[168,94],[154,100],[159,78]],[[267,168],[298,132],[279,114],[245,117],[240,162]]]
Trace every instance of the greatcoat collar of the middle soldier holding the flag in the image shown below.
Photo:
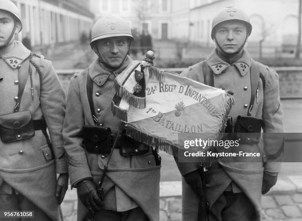
[[[125,62],[122,64],[122,66],[113,71],[110,72],[107,69],[104,69],[100,63],[99,58],[97,58],[92,64],[88,67],[88,73],[91,79],[99,86],[102,86],[110,74],[114,74],[115,76],[120,74],[130,63],[132,62],[132,59],[129,55],[127,55]]]

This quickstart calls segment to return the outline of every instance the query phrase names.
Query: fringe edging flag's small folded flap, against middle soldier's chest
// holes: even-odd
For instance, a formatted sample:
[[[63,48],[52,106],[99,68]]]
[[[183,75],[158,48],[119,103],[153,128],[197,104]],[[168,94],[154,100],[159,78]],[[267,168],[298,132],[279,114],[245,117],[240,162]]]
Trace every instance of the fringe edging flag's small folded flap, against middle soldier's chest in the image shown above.
[[[146,97],[137,97],[133,95],[126,88],[119,85],[116,78],[114,80],[114,89],[117,92],[117,95],[125,100],[129,105],[139,109],[146,108]]]

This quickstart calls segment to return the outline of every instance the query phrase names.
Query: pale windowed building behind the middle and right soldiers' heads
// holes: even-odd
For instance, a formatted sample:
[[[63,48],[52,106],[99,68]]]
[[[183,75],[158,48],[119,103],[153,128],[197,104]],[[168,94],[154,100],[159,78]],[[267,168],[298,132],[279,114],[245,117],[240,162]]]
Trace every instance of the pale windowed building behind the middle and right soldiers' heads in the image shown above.
[[[294,46],[298,37],[298,0],[90,0],[96,18],[107,13],[126,19],[132,29],[147,29],[154,39],[179,39],[214,46],[213,16],[223,7],[247,12],[253,25],[248,47],[266,50]]]

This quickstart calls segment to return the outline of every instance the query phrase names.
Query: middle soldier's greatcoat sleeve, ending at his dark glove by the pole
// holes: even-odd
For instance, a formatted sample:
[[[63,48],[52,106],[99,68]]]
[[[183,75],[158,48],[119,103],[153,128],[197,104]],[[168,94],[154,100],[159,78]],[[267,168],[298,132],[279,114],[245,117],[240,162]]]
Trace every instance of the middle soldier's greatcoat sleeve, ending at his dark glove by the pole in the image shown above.
[[[70,81],[63,126],[64,148],[72,186],[84,178],[92,177],[80,136],[84,125],[84,111],[80,100],[79,82],[76,77],[75,75]]]

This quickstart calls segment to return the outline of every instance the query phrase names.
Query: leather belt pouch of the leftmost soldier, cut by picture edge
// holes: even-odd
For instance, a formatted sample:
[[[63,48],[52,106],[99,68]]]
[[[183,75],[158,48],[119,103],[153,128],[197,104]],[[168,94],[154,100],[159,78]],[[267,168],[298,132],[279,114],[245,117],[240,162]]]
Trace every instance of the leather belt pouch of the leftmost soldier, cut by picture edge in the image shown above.
[[[0,137],[3,143],[11,143],[35,136],[31,111],[0,115]]]

